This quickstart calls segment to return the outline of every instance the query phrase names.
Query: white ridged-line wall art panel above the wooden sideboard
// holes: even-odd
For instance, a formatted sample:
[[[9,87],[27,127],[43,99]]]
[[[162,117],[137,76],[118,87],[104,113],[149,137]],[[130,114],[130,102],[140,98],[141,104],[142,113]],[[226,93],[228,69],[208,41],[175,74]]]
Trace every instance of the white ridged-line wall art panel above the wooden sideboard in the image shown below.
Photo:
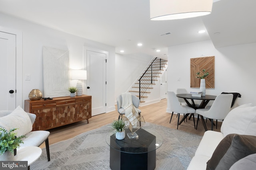
[[[43,46],[44,97],[69,96],[69,53]]]

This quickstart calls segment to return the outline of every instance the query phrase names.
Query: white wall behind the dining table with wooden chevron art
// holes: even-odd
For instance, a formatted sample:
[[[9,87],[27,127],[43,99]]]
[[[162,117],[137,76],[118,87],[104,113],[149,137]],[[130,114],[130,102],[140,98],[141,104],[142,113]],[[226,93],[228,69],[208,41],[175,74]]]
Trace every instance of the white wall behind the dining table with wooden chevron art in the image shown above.
[[[206,89],[206,94],[236,91],[242,95],[238,105],[256,105],[256,43],[222,47],[216,49],[211,41],[201,41],[168,47],[168,87],[190,91],[190,58],[215,56],[215,88]],[[177,78],[180,77],[180,81]],[[199,88],[198,88],[199,89]],[[170,111],[167,106],[167,111]]]

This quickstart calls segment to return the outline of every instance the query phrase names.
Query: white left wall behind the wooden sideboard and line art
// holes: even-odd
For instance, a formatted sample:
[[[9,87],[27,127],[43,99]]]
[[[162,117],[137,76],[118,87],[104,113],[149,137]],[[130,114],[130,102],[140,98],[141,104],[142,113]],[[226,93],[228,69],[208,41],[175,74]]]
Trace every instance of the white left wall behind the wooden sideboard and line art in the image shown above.
[[[0,27],[5,30],[16,29],[22,32],[23,36],[23,61],[22,61],[22,106],[24,100],[28,99],[28,93],[32,89],[40,89],[43,92],[43,65],[42,65],[42,46],[56,47],[69,51],[70,67],[82,69],[83,66],[84,46],[92,47],[109,52],[107,65],[107,111],[114,110],[114,88],[115,88],[115,48],[90,41],[85,38],[77,37],[38,25],[25,20],[20,20],[12,16],[0,13]],[[21,64],[21,63],[18,63]],[[31,80],[25,80],[25,74],[31,75]],[[111,75],[111,76],[110,76]]]

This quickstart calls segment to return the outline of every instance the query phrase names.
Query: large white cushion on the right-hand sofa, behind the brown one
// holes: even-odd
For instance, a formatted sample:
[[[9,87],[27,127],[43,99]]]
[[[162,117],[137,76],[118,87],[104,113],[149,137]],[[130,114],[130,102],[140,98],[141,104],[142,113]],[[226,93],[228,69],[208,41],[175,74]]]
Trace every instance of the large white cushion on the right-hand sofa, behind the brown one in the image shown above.
[[[256,106],[244,104],[232,109],[224,119],[220,131],[228,134],[256,136]]]

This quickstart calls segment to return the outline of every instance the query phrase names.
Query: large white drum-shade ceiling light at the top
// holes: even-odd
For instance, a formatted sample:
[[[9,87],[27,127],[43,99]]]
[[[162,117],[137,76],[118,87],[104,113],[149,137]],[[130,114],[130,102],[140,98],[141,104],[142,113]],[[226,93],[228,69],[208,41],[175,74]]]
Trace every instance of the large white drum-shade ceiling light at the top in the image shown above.
[[[176,20],[208,15],[212,0],[150,0],[150,20]]]

